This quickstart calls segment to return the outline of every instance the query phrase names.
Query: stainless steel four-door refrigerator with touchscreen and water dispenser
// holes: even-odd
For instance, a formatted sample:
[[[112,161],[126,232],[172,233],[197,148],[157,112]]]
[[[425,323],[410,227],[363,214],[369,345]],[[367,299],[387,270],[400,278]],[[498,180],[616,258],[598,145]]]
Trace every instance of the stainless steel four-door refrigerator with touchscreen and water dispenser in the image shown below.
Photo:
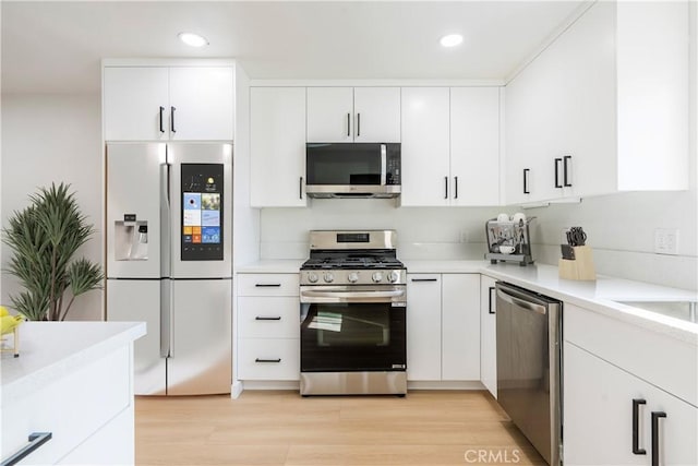
[[[145,321],[139,395],[230,393],[232,145],[107,145],[107,320]]]

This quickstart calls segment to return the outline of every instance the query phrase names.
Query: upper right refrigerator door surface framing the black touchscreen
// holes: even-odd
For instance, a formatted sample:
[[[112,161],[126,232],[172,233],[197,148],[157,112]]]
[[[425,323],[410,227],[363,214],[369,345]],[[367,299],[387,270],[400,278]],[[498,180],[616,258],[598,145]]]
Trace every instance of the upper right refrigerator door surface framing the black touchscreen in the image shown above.
[[[212,143],[170,144],[170,216],[172,278],[228,278],[232,276],[232,145]],[[182,260],[182,164],[222,164],[222,260]]]

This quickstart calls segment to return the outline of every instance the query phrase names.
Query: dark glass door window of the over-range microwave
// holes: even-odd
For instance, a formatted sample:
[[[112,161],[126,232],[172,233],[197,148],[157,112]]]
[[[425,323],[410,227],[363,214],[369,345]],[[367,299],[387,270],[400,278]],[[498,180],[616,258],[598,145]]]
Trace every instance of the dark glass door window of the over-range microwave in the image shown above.
[[[381,184],[380,144],[309,144],[308,184]]]

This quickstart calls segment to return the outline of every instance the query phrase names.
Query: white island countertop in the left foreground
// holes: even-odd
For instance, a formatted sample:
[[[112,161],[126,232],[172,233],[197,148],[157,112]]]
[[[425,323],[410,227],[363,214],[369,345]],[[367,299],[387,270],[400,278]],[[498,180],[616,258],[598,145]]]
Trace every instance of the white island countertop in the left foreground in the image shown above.
[[[0,407],[145,335],[145,322],[24,322],[20,357],[0,359]]]

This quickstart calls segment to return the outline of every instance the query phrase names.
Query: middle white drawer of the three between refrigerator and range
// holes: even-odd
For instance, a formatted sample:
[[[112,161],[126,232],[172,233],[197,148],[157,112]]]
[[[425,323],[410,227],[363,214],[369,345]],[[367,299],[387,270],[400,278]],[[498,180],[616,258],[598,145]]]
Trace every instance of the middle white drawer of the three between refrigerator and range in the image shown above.
[[[298,338],[301,328],[300,301],[294,297],[238,298],[240,338]]]

